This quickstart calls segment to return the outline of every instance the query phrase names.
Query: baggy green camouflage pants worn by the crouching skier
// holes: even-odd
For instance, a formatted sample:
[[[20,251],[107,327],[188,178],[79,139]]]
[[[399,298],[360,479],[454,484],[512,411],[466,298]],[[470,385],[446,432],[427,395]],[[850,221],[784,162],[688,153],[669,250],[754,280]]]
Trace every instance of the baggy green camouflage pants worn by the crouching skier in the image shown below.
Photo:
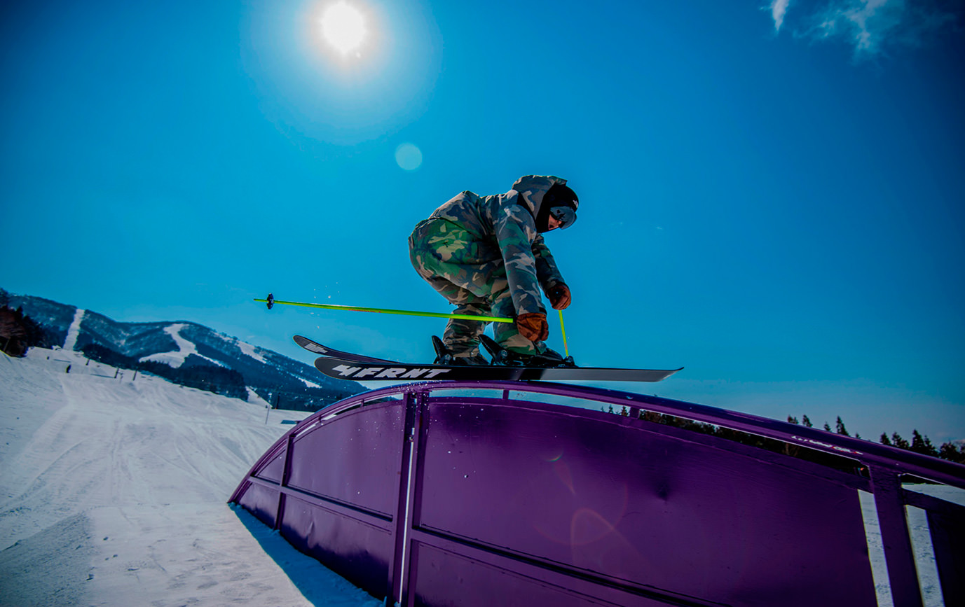
[[[483,247],[471,234],[447,220],[421,222],[409,236],[412,267],[455,305],[455,314],[515,318],[503,258],[485,256]],[[451,318],[442,340],[455,356],[478,355],[480,335],[488,324]],[[532,342],[520,335],[513,323],[493,323],[493,336],[513,352],[538,354],[546,349],[543,342]]]

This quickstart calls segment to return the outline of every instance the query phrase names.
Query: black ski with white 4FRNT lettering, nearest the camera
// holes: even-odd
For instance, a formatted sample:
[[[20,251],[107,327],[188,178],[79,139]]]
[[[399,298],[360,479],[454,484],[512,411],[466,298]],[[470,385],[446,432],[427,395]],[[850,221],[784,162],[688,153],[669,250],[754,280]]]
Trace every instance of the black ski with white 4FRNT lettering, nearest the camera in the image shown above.
[[[409,364],[377,362],[322,356],[315,361],[318,371],[338,380],[536,381],[559,382],[660,382],[682,369],[613,369],[609,367],[510,367],[503,365]]]

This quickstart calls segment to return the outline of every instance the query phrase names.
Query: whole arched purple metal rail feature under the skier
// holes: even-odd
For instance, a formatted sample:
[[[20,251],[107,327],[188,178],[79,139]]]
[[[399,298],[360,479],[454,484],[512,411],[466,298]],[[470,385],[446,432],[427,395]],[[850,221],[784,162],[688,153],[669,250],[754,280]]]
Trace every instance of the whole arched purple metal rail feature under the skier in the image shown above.
[[[538,402],[550,397],[631,415]],[[846,457],[870,479],[640,410]],[[958,511],[909,496],[903,474],[965,488],[965,466],[723,409],[549,383],[421,383],[307,418],[231,501],[390,603],[860,607],[877,604],[864,489],[895,604],[921,604],[904,520],[916,499],[941,536],[943,591],[958,596],[945,587],[961,567],[947,554]]]

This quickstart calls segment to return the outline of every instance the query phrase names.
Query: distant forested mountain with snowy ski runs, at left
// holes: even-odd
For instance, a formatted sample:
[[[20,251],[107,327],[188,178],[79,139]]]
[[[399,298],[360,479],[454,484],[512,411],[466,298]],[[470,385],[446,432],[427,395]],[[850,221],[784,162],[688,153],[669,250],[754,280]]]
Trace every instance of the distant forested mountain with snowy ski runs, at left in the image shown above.
[[[196,323],[120,323],[40,297],[9,297],[11,307],[22,306],[41,325],[51,346],[77,352],[106,349],[148,367],[159,362],[181,371],[212,365],[231,369],[279,409],[321,409],[366,389],[359,383],[327,378],[311,365]]]

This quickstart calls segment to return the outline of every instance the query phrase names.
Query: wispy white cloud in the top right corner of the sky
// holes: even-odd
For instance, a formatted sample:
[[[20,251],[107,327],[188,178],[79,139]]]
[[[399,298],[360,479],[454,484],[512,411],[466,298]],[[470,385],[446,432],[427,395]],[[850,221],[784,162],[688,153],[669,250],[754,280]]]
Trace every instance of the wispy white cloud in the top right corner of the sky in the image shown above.
[[[780,31],[785,23],[788,4],[789,0],[771,2],[775,31]],[[921,46],[937,30],[954,23],[959,13],[960,2],[832,0],[802,16],[796,35],[844,41],[854,49],[855,59],[862,60],[890,48]]]

